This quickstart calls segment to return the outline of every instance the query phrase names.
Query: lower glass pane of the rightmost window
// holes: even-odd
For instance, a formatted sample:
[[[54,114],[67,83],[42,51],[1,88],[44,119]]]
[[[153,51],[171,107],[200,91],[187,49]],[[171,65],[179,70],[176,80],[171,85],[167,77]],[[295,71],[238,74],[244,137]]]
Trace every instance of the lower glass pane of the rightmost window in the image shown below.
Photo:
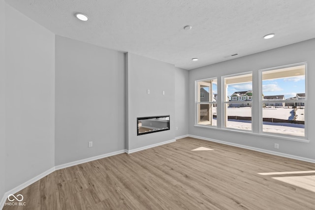
[[[305,136],[304,106],[262,108],[262,131],[293,136]]]

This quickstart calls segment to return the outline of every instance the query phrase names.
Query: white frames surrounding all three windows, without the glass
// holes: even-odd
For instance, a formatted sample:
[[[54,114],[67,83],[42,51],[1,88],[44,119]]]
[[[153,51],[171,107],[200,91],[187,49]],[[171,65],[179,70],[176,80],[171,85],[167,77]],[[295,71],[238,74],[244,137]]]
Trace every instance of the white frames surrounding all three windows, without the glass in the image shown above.
[[[280,69],[280,68],[285,68],[289,66],[295,66],[295,65],[305,65],[305,93],[306,97],[308,96],[308,70],[307,70],[307,62],[300,62],[300,63],[294,63],[294,64],[289,64],[289,65],[283,65],[283,66],[277,66],[277,67],[272,67],[272,68],[265,68],[265,69],[257,69],[257,71],[250,71],[250,72],[242,72],[242,73],[237,73],[237,74],[231,74],[231,75],[225,75],[221,76],[221,90],[218,86],[218,94],[221,94],[221,98],[218,95],[218,99],[216,102],[213,104],[217,103],[217,126],[211,126],[211,125],[202,125],[198,124],[197,119],[198,119],[198,110],[197,110],[197,97],[198,97],[198,92],[197,92],[197,82],[199,81],[207,81],[207,80],[213,80],[217,79],[217,85],[220,84],[219,79],[220,77],[212,77],[208,79],[201,79],[201,80],[196,80],[195,81],[195,124],[194,126],[196,127],[202,127],[206,129],[219,129],[219,130],[224,130],[226,132],[234,132],[234,133],[247,133],[248,135],[252,136],[260,136],[260,137],[266,137],[266,138],[276,138],[276,139],[282,139],[282,140],[287,140],[287,141],[295,141],[295,142],[303,142],[303,143],[309,143],[310,140],[308,140],[307,136],[307,131],[308,131],[308,119],[309,117],[307,116],[307,110],[305,110],[305,136],[293,136],[293,135],[278,135],[276,133],[271,133],[271,132],[262,132],[262,104],[263,103],[271,103],[270,101],[263,100],[262,96],[262,73],[261,71],[264,70],[273,70],[273,69]],[[243,130],[243,129],[235,129],[235,128],[227,128],[225,127],[225,104],[226,103],[244,103],[243,101],[233,101],[233,98],[231,97],[230,99],[227,97],[225,98],[224,92],[224,78],[225,77],[230,77],[230,76],[237,76],[237,75],[243,75],[243,74],[249,74],[252,73],[252,92],[255,94],[257,92],[258,96],[248,96],[250,100],[255,100],[257,101],[251,101],[250,103],[252,104],[252,131],[250,130]],[[257,79],[258,81],[254,80]],[[254,83],[258,83],[258,86],[254,86]],[[238,96],[234,96],[238,99]],[[305,97],[305,100],[301,100],[305,107],[307,107],[307,98]],[[230,101],[229,101],[230,100]],[[253,103],[254,102],[254,103]],[[273,101],[274,102],[274,101]],[[285,100],[285,102],[299,102],[298,100]],[[285,103],[284,102],[284,103]],[[258,106],[258,107],[256,107]],[[254,113],[255,111],[255,113]],[[256,113],[258,112],[258,113]],[[253,115],[255,114],[255,115]]]

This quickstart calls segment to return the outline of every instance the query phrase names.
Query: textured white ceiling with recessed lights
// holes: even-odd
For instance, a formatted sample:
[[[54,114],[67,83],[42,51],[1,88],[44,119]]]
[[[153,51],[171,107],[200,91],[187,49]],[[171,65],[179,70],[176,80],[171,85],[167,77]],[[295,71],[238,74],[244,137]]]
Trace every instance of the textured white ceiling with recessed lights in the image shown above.
[[[315,38],[315,0],[6,2],[58,35],[184,69]],[[76,12],[87,14],[89,21],[77,20]],[[186,25],[192,29],[184,30]],[[263,39],[268,33],[276,36]]]

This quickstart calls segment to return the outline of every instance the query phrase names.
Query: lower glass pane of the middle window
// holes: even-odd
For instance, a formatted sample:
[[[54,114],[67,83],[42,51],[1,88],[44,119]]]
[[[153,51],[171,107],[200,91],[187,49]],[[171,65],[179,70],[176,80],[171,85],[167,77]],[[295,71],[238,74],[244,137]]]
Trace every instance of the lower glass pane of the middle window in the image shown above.
[[[252,130],[252,103],[225,104],[225,127]]]

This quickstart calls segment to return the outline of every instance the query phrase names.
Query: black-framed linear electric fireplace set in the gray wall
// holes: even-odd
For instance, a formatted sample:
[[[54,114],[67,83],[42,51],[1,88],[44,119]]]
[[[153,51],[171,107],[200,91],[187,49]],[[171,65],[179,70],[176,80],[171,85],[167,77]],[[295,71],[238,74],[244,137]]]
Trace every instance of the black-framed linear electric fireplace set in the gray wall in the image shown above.
[[[137,118],[137,135],[169,130],[169,115]]]

